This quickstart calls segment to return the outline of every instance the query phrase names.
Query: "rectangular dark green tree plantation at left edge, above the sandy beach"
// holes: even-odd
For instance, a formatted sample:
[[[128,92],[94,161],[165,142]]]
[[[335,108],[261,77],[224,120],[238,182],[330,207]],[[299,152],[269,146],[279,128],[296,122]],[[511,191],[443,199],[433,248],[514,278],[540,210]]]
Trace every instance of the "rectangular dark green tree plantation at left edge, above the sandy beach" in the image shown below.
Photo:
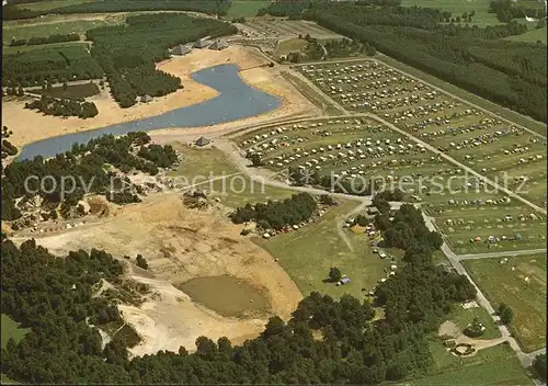
[[[41,86],[103,77],[103,69],[81,45],[46,47],[2,56],[2,84]]]

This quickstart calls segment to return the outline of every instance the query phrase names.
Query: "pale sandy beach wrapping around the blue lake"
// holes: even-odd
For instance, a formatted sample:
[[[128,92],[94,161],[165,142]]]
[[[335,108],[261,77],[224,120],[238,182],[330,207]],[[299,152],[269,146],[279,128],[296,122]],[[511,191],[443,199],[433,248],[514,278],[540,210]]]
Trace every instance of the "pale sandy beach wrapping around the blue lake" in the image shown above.
[[[184,89],[162,98],[156,98],[150,103],[137,103],[129,109],[121,109],[105,90],[99,95],[89,98],[89,101],[93,101],[96,104],[99,115],[91,120],[80,120],[78,117],[62,118],[45,116],[35,111],[25,110],[24,102],[22,101],[4,100],[2,103],[2,125],[13,130],[13,136],[10,140],[15,146],[23,146],[54,136],[159,115],[174,109],[185,107],[215,98],[218,92],[193,81],[191,73],[199,69],[227,63],[237,64],[243,70],[240,72],[240,76],[249,84],[282,98],[284,103],[275,112],[241,120],[236,123],[193,128],[193,133],[229,129],[239,124],[259,123],[262,120],[272,120],[278,116],[313,111],[315,107],[311,103],[283,79],[276,68],[252,68],[261,64],[267,64],[269,61],[255,48],[231,46],[221,52],[193,49],[191,54],[184,57],[175,57],[157,65],[157,68],[180,77]]]

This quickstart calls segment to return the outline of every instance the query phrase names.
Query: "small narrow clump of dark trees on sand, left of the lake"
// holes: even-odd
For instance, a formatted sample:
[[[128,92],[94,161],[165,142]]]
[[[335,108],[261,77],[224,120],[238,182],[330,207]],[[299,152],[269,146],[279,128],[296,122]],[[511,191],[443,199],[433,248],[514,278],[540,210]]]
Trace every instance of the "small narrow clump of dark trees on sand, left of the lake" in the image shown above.
[[[41,99],[26,102],[25,109],[38,110],[46,115],[78,116],[82,120],[91,118],[99,114],[99,110],[93,102],[57,99],[45,94]]]

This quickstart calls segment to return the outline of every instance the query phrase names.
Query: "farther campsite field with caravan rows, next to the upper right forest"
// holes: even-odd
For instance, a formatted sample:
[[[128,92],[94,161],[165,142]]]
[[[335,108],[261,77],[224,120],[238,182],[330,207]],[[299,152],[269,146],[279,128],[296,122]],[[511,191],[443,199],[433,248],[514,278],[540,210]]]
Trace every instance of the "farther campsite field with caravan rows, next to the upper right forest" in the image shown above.
[[[376,60],[298,66],[352,112],[372,112],[533,203],[546,205],[546,137],[509,125]],[[517,164],[517,167],[516,167]]]

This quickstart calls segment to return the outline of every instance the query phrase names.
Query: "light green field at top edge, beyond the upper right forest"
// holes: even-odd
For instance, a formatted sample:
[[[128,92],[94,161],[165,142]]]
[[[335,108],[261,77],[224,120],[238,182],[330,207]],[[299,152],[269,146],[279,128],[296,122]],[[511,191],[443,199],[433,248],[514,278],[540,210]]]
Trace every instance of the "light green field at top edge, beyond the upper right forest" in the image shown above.
[[[460,16],[463,13],[476,11],[471,25],[486,26],[502,24],[494,13],[489,13],[489,0],[402,0],[403,7],[435,8],[452,12],[452,18]],[[465,23],[461,23],[463,25]]]

